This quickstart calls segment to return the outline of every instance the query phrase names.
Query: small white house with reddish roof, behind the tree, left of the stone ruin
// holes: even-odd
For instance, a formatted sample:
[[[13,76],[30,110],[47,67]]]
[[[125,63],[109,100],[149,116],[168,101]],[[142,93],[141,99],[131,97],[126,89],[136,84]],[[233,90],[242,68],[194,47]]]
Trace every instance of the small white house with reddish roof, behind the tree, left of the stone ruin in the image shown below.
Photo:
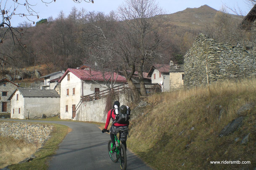
[[[170,91],[170,65],[155,64],[150,68],[148,77],[151,78],[152,84],[159,84],[162,92]]]

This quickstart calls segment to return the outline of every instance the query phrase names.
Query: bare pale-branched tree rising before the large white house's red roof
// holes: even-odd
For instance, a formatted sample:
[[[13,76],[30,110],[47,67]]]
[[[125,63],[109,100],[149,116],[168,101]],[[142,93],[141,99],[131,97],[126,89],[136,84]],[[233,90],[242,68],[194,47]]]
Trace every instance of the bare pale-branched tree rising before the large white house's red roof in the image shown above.
[[[85,45],[89,49],[89,58],[84,63],[94,65],[94,69],[100,71],[103,76],[104,84],[112,88],[116,84],[119,66],[116,63],[116,53],[112,50],[113,29],[116,28],[115,14],[111,16],[102,12],[90,12],[87,20],[87,34],[84,34]]]

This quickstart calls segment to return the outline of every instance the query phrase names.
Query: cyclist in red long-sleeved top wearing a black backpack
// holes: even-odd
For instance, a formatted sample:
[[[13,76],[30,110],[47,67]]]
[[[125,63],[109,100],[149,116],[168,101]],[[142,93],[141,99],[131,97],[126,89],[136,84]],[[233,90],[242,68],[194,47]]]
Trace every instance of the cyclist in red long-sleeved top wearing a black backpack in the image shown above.
[[[112,144],[113,144],[113,149],[112,150],[116,149],[115,134],[117,134],[119,132],[121,132],[121,134],[120,134],[121,135],[121,142],[125,146],[125,149],[127,149],[126,141],[127,141],[127,135],[128,135],[129,121],[127,120],[127,123],[124,123],[124,124],[115,123],[116,115],[119,114],[118,113],[118,109],[117,109],[119,107],[120,107],[119,101],[115,101],[114,105],[113,105],[113,109],[108,111],[105,128],[102,130],[102,133],[107,131],[109,122],[110,122],[110,120],[112,118],[113,123],[112,123],[111,128],[109,129],[110,130],[110,138],[111,138],[111,141],[112,141]],[[127,107],[128,106],[122,105],[121,108],[120,108],[121,112],[122,111],[123,112],[127,112],[127,109],[128,109],[128,112],[130,112],[129,107],[128,108]]]

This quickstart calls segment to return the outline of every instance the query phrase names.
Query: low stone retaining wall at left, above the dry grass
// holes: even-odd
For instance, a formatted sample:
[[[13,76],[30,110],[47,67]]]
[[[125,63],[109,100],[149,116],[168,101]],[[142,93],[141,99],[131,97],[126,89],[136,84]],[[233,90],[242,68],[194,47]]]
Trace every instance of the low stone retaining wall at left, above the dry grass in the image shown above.
[[[24,139],[29,143],[41,144],[48,139],[52,130],[53,126],[0,121],[0,136]]]

